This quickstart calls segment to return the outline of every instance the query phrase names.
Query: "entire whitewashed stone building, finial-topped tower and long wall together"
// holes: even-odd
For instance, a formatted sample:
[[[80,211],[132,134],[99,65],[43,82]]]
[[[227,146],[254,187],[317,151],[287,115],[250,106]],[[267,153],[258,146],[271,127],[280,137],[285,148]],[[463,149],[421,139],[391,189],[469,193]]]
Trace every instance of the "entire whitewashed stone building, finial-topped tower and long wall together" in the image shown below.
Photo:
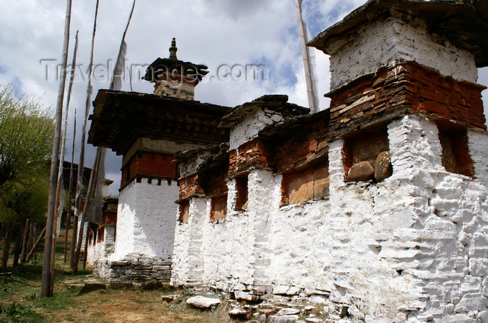
[[[487,8],[368,1],[309,44],[330,55],[319,113],[165,97],[158,78],[155,95],[100,91],[91,142],[124,155],[101,271],[345,322],[488,322]]]

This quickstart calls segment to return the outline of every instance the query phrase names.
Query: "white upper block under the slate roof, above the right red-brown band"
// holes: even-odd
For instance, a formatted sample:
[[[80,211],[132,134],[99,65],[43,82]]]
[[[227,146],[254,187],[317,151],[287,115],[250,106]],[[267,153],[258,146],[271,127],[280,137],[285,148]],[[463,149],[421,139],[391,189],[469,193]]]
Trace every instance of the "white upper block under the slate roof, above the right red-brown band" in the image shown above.
[[[471,53],[427,32],[425,22],[397,17],[367,24],[353,40],[338,40],[330,54],[330,88],[395,61],[416,61],[441,74],[475,83],[478,70]]]

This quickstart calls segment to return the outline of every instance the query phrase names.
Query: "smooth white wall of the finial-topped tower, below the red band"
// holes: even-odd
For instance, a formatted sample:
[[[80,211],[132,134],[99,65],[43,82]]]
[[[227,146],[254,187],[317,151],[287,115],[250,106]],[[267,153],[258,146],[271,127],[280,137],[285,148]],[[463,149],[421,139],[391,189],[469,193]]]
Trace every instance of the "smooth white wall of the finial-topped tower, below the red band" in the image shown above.
[[[126,186],[119,196],[115,252],[111,260],[128,255],[171,259],[178,199],[176,181],[142,178]]]

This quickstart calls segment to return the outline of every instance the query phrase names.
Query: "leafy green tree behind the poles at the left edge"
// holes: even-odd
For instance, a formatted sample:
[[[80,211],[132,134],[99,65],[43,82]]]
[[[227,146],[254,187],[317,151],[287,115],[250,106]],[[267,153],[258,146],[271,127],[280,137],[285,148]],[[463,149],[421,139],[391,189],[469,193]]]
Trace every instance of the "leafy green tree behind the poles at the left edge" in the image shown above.
[[[0,227],[6,267],[13,229],[25,219],[45,221],[54,119],[39,100],[0,84]]]

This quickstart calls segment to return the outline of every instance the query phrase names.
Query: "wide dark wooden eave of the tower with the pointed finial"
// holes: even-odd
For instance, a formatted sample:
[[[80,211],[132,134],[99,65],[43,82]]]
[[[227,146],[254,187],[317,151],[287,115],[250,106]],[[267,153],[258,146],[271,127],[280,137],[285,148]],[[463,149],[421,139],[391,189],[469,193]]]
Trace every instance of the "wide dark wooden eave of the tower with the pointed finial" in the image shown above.
[[[125,155],[139,138],[201,145],[229,141],[218,128],[230,108],[159,95],[100,90],[93,102],[88,143]]]

